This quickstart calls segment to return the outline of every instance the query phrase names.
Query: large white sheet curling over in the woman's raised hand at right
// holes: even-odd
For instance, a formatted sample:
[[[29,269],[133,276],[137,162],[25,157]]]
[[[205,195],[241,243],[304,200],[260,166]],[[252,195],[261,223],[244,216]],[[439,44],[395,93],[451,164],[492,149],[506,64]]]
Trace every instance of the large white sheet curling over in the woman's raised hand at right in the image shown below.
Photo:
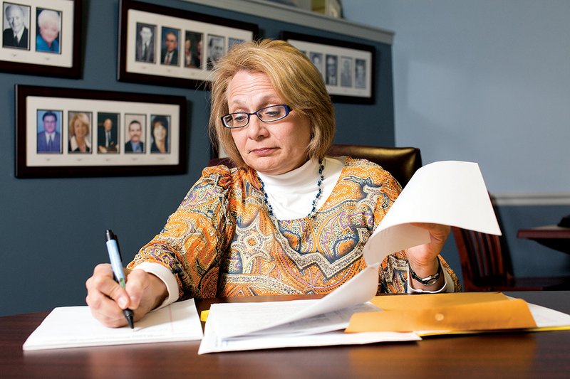
[[[366,262],[429,242],[427,231],[410,223],[501,234],[479,165],[472,162],[440,161],[418,169],[366,243]]]

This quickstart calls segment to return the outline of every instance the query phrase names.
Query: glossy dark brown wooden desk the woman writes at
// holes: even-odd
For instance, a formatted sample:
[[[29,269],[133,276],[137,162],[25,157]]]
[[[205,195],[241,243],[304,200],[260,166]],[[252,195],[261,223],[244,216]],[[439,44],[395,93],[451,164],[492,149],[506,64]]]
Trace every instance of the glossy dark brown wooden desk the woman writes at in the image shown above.
[[[570,313],[570,292],[508,294]],[[206,309],[211,302],[197,306]],[[1,378],[568,378],[570,373],[570,331],[204,356],[197,355],[199,341],[22,351],[47,314],[0,317]]]

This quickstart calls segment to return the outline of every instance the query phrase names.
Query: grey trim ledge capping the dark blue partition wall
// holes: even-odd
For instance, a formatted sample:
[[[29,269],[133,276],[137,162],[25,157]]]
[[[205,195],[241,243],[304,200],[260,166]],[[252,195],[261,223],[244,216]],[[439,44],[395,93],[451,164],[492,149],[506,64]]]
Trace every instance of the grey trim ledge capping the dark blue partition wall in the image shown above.
[[[265,0],[182,0],[392,45],[394,32]]]

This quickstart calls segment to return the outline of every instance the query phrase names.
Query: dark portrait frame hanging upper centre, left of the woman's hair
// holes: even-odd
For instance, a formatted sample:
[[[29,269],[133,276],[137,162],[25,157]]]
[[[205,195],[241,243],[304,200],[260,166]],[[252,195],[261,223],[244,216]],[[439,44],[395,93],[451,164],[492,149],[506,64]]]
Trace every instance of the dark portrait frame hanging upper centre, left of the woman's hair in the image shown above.
[[[253,23],[120,1],[118,80],[207,89],[216,61],[252,41]]]

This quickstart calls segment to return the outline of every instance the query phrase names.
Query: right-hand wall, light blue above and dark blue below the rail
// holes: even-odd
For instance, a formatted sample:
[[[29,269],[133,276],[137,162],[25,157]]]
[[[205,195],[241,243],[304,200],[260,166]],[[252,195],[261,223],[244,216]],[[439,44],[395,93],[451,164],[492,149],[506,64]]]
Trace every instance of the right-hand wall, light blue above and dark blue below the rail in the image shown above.
[[[570,275],[570,255],[517,238],[570,213],[570,2],[350,0],[343,15],[395,31],[396,144],[478,162],[515,274]],[[444,257],[459,269],[452,240]]]

